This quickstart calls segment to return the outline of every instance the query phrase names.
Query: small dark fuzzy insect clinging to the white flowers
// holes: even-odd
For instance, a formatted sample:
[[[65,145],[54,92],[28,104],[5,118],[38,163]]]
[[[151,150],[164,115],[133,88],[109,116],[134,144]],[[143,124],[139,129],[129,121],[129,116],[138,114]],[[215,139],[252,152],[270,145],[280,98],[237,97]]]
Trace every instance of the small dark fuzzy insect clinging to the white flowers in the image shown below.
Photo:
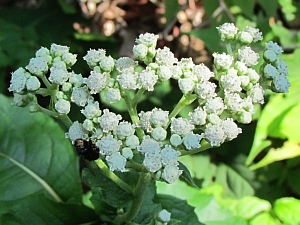
[[[99,149],[91,140],[77,139],[74,146],[78,155],[81,155],[86,160],[93,161],[99,158]]]

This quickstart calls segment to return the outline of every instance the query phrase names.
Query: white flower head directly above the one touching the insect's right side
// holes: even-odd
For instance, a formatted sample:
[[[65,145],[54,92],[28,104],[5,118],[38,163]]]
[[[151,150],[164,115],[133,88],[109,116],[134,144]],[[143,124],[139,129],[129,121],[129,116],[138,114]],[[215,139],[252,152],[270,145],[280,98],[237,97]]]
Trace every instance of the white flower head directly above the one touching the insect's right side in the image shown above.
[[[116,115],[113,112],[109,112],[108,109],[104,109],[102,116],[98,118],[98,122],[103,129],[103,132],[109,132],[117,128],[121,119],[121,115]]]

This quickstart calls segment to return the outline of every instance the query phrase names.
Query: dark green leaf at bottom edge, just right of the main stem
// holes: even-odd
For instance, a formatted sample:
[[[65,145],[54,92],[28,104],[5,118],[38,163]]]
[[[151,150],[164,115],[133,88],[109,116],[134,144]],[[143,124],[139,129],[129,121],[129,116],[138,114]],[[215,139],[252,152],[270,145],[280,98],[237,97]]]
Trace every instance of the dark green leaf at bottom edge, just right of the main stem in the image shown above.
[[[198,221],[194,208],[186,201],[170,195],[157,195],[155,202],[160,203],[163,209],[171,213],[172,219],[180,220],[184,225],[203,225]]]

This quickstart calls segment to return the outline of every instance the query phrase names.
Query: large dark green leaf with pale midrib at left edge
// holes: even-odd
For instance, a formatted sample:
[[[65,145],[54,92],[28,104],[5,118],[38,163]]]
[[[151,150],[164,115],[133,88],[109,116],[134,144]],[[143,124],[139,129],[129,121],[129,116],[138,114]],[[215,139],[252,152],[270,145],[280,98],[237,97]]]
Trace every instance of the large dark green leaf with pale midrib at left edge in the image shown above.
[[[48,116],[30,114],[11,101],[0,95],[0,214],[16,216],[22,204],[36,208],[40,217],[63,213],[61,208],[67,210],[69,203],[84,207],[78,156],[64,131]],[[45,198],[60,209],[48,212],[35,204],[45,203]],[[24,219],[21,214],[16,218]]]

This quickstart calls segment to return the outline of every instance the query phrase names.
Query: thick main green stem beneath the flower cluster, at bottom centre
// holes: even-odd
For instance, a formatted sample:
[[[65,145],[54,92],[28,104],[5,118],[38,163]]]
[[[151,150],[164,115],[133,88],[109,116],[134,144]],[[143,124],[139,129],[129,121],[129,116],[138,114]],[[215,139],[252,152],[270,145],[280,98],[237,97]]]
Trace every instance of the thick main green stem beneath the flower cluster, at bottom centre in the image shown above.
[[[139,213],[143,199],[147,190],[147,186],[151,182],[151,174],[150,173],[141,173],[137,186],[133,193],[133,201],[129,210],[122,215],[117,216],[113,222],[120,224],[122,222],[130,222],[132,221],[136,215]]]

